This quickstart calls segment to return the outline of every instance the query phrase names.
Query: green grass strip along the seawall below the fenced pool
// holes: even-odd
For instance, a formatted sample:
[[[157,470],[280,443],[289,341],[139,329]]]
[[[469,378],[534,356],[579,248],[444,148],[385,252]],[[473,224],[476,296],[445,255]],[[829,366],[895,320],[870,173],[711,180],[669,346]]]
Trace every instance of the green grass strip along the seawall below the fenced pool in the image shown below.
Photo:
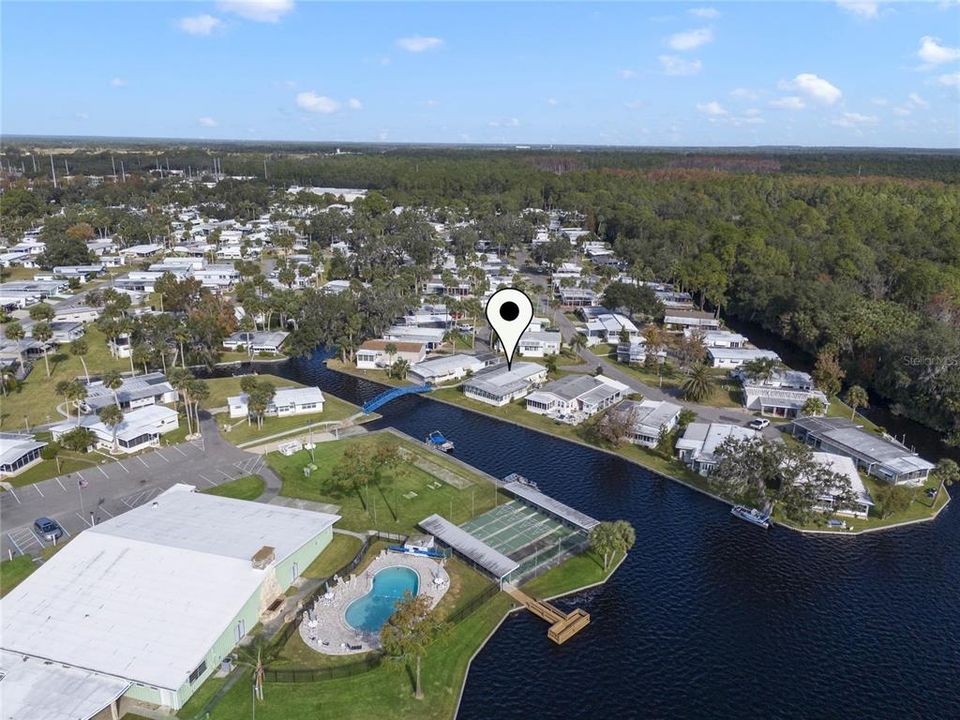
[[[497,594],[429,646],[423,658],[423,700],[413,697],[410,676],[403,668],[385,665],[336,680],[296,685],[267,683],[264,692],[269,700],[258,703],[257,717],[449,720],[457,705],[467,663],[512,604],[505,593]],[[214,708],[210,720],[247,717],[252,702],[250,683],[241,679]]]

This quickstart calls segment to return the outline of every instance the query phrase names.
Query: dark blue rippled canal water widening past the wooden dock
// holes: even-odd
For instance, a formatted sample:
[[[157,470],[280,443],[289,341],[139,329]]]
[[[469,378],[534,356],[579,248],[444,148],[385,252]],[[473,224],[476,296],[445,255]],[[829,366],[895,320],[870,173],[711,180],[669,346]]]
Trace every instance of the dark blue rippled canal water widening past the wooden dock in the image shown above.
[[[376,383],[323,355],[262,371],[352,402]],[[637,543],[612,581],[558,601],[591,614],[557,646],[515,614],[477,655],[461,720],[960,718],[960,492],[929,523],[860,537],[760,530],[615,456],[408,396],[378,425],[439,429],[455,456],[518,472]],[[931,456],[930,459],[935,459]]]

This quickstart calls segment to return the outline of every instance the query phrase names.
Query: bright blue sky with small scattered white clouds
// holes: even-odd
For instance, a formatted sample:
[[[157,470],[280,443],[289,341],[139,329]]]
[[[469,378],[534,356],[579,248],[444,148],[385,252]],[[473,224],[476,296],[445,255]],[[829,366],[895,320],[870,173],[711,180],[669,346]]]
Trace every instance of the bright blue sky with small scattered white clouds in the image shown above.
[[[960,146],[960,1],[7,2],[4,134]]]

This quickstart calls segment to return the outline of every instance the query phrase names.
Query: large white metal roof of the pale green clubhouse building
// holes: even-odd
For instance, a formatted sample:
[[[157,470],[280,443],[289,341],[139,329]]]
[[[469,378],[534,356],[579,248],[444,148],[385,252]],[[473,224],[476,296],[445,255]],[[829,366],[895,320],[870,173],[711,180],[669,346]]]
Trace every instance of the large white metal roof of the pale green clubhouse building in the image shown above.
[[[174,486],[77,535],[0,600],[6,650],[176,690],[267,569],[336,515]]]

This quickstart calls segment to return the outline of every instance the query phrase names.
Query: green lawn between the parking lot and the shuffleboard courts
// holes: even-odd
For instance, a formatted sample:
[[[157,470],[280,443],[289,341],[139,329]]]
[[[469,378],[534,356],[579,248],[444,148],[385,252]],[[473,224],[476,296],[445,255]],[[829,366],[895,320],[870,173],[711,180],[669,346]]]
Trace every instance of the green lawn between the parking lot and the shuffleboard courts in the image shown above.
[[[399,442],[407,450],[428,458],[447,469],[455,471],[474,482],[471,487],[460,490],[440,482],[440,487],[430,488],[437,482],[433,475],[411,463],[404,462],[393,472],[385,472],[380,486],[372,482],[357,491],[335,492],[328,482],[333,469],[346,448],[354,444],[377,444]],[[389,532],[410,533],[416,523],[425,517],[439,513],[454,523],[466,522],[470,517],[485,512],[494,505],[498,495],[493,484],[479,475],[455,466],[439,453],[427,450],[418,443],[399,440],[392,435],[377,433],[345,440],[318,443],[311,461],[306,450],[289,457],[273,452],[266,456],[267,464],[283,478],[281,494],[287,497],[304,498],[340,506],[343,518],[338,526],[347,530],[364,531],[370,528]],[[305,477],[303,468],[314,464],[317,470]],[[404,495],[415,492],[416,497]],[[498,495],[498,503],[506,496]]]

